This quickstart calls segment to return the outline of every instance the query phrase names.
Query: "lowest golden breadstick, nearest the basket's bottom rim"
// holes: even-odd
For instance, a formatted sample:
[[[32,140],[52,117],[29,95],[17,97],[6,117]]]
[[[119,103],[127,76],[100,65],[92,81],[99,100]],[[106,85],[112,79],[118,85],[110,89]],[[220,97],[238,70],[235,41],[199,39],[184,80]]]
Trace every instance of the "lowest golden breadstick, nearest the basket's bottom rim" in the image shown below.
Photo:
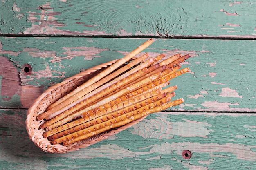
[[[142,117],[144,117],[148,114],[151,114],[151,113],[154,113],[154,112],[160,112],[160,111],[165,110],[169,107],[179,105],[183,102],[184,102],[184,100],[183,100],[183,98],[181,98],[181,99],[171,101],[169,103],[165,103],[165,104],[157,106],[157,107],[150,108],[149,110],[145,110],[145,111],[142,110],[142,112],[134,110],[133,112],[129,112],[128,114],[121,115],[121,116],[117,117],[114,120],[110,119],[109,121],[106,121],[106,122],[99,123],[99,124],[95,125],[94,128],[97,129],[97,130],[94,130],[92,128],[90,128],[90,129],[86,128],[84,130],[81,130],[80,133],[72,134],[72,135],[70,135],[71,138],[67,138],[67,139],[63,140],[63,145],[65,145],[65,146],[70,145],[71,143],[75,143],[77,141],[88,139],[88,138],[90,138],[92,136],[95,136],[97,134],[100,134],[102,132],[106,132],[107,130],[110,130],[110,129],[113,129],[113,128],[119,128],[123,125],[126,125],[126,124],[132,122],[132,121],[140,119],[140,118],[142,118]],[[101,127],[103,127],[103,128],[101,128]],[[91,131],[91,129],[92,129],[92,131]],[[72,136],[73,136],[73,138],[72,138]]]

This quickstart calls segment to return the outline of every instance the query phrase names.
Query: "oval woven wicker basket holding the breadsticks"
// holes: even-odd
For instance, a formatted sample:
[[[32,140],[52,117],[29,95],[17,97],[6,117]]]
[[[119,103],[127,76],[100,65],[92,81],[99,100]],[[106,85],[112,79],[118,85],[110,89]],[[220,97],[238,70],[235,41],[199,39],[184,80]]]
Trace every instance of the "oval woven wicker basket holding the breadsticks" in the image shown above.
[[[43,94],[41,94],[41,96],[39,96],[34,101],[34,103],[31,105],[31,107],[27,112],[26,128],[27,128],[29,138],[34,142],[35,145],[37,145],[41,150],[45,152],[51,152],[51,153],[71,152],[74,150],[78,150],[80,148],[86,148],[90,145],[93,145],[94,143],[102,141],[103,139],[107,139],[109,136],[115,135],[118,132],[121,132],[122,130],[129,128],[132,125],[135,125],[136,123],[139,123],[139,121],[142,120],[142,119],[138,119],[120,128],[112,129],[108,132],[101,133],[90,139],[79,141],[67,146],[63,146],[61,144],[52,145],[51,141],[49,141],[47,138],[43,138],[43,133],[45,132],[45,130],[40,129],[39,127],[45,121],[44,120],[37,121],[36,117],[39,114],[42,114],[43,112],[45,112],[45,110],[47,109],[47,107],[49,107],[49,105],[57,101],[59,98],[65,96],[67,93],[71,92],[73,89],[83,84],[92,76],[103,71],[105,68],[109,67],[116,61],[117,60],[113,60],[108,63],[104,63],[101,65],[92,67],[90,69],[85,70],[84,72],[81,72],[70,78],[67,78],[63,82],[49,87],[49,89],[45,90],[45,92],[43,92]]]

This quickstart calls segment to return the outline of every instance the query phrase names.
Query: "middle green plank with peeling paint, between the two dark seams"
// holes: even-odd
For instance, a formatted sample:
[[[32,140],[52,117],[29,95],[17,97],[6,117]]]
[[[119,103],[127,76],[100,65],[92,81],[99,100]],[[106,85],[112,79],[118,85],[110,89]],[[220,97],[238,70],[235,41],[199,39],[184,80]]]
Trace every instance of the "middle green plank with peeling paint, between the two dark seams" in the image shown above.
[[[129,38],[2,37],[0,56],[11,69],[1,67],[0,106],[28,108],[50,85],[77,74],[81,69],[121,58],[144,41]],[[166,56],[188,53],[192,56],[182,65],[183,68],[189,67],[191,73],[170,81],[171,85],[178,86],[176,98],[185,101],[172,110],[255,112],[254,40],[158,39],[141,54],[144,52],[151,56],[160,53]],[[31,65],[31,74],[25,74],[25,64]],[[20,78],[16,76],[16,81],[19,83],[12,84],[16,88],[8,89],[6,83],[11,82],[11,75],[18,73]]]

